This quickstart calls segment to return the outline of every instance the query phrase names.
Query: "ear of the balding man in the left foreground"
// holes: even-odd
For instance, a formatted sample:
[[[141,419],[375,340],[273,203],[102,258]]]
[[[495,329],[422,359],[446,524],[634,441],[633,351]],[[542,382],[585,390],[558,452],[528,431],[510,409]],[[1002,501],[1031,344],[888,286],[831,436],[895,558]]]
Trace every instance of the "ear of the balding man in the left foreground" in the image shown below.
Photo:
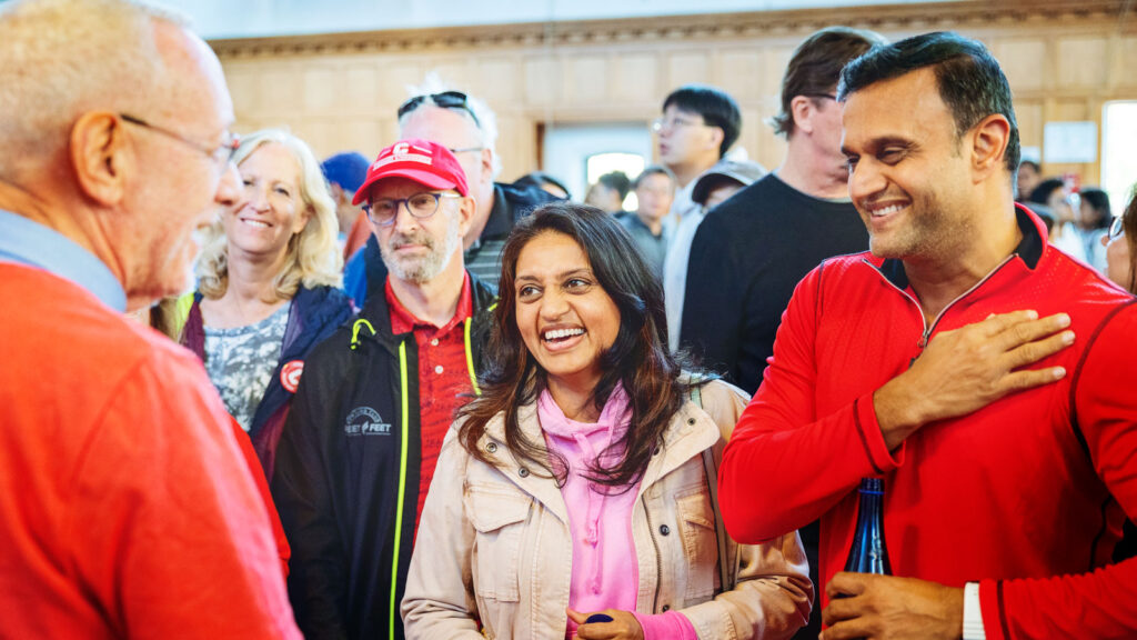
[[[68,150],[84,195],[103,205],[122,202],[133,156],[127,153],[121,120],[106,112],[81,115],[72,126]]]

